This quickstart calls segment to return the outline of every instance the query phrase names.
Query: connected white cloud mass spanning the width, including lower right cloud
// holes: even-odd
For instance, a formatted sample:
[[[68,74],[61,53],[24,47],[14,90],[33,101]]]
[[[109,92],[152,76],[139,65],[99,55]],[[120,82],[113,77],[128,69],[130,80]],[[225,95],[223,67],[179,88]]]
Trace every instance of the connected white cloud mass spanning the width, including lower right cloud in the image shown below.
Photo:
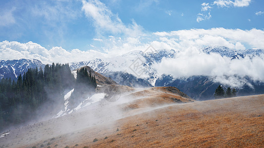
[[[162,59],[155,65],[159,74],[172,74],[174,77],[188,77],[191,75],[207,75],[222,84],[240,87],[247,83],[246,79],[239,79],[246,75],[255,80],[264,80],[264,57],[230,60],[218,54],[205,54],[199,49],[209,45],[223,45],[229,48],[264,49],[264,31],[251,29],[191,29],[172,32],[156,32],[139,37],[109,36],[102,43],[102,52],[96,50],[67,51],[61,47],[46,49],[33,42],[19,43],[15,41],[0,42],[0,57],[7,59],[38,59],[43,63],[69,63],[88,61],[95,58],[115,57],[132,50],[144,51],[150,44],[156,49],[178,50],[176,59]],[[94,40],[101,40],[94,38]],[[91,45],[94,46],[94,45]],[[97,47],[93,47],[97,49]]]

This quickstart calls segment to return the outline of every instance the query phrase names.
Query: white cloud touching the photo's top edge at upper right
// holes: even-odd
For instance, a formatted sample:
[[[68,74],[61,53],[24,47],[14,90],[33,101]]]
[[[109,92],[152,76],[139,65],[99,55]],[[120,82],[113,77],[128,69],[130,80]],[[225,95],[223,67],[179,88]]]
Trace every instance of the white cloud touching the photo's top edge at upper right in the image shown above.
[[[220,7],[245,7],[249,6],[251,0],[215,0],[213,4]]]

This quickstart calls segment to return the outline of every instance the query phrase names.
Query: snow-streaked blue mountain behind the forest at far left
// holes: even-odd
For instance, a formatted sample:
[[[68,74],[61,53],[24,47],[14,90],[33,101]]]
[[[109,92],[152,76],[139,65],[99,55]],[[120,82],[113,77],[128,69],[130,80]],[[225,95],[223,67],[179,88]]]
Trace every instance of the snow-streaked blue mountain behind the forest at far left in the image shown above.
[[[36,59],[0,60],[0,78],[16,79],[19,74],[24,74],[29,68],[44,68],[44,66]]]

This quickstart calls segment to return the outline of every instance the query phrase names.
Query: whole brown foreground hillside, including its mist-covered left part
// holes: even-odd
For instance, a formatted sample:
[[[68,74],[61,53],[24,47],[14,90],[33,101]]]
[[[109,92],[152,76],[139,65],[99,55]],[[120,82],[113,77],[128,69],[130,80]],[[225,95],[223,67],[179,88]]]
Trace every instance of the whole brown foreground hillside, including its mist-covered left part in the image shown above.
[[[13,129],[0,148],[264,147],[264,95],[182,104],[171,102],[176,96],[191,100],[163,88],[134,91],[111,106]],[[167,103],[153,106],[155,98]]]

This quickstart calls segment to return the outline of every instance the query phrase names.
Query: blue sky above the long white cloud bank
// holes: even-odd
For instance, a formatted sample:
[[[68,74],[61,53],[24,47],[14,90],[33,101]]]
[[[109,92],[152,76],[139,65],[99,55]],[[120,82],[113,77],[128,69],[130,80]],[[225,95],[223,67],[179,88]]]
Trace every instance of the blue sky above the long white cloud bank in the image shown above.
[[[134,22],[139,31],[133,37],[190,29],[264,30],[264,0],[1,0],[0,41],[87,51],[106,47],[97,39],[129,36],[98,25],[100,18],[87,14],[85,3],[103,8],[104,15],[125,28],[132,29]],[[210,8],[203,11],[203,3]],[[199,16],[204,20],[198,21]]]

